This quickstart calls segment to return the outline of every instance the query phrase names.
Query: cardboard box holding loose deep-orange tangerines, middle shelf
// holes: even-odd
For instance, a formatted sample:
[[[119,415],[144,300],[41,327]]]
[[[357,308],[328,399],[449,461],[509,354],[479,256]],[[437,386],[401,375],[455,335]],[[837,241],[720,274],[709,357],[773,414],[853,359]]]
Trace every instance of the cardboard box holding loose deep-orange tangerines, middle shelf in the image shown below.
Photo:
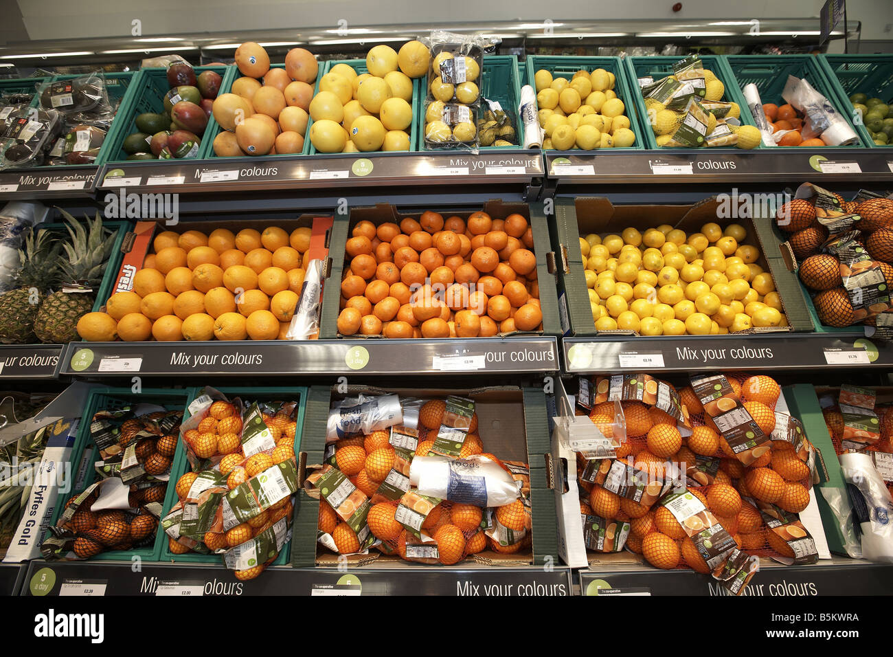
[[[522,215],[530,223],[533,232],[533,251],[537,257],[537,279],[539,282],[539,305],[543,313],[542,333],[559,335],[561,324],[558,318],[558,299],[555,293],[555,254],[549,241],[548,223],[541,203],[506,203],[501,200],[490,200],[483,205],[447,206],[432,208],[445,217],[456,215],[468,219],[470,215],[483,210],[495,219],[505,219],[512,214]],[[421,212],[405,211],[390,203],[376,206],[351,207],[350,215],[338,215],[332,227],[329,255],[331,268],[328,275],[330,287],[338,289],[346,263],[346,241],[351,237],[354,227],[361,221],[370,221],[375,225],[381,223],[400,223],[406,217],[418,220]],[[321,339],[343,337],[338,333],[338,314],[340,294],[330,293],[322,298]],[[516,332],[515,334],[523,334]],[[381,336],[352,335],[355,338],[380,338]]]

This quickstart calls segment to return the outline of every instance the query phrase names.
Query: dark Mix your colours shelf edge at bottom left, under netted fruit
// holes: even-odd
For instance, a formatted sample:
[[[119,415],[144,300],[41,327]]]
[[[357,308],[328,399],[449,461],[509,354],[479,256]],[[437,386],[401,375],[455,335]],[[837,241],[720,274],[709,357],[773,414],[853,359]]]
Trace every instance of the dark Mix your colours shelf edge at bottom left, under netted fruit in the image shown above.
[[[88,593],[89,592],[89,593]],[[22,594],[40,595],[569,595],[571,570],[404,567],[292,569],[239,582],[222,566],[32,561]]]

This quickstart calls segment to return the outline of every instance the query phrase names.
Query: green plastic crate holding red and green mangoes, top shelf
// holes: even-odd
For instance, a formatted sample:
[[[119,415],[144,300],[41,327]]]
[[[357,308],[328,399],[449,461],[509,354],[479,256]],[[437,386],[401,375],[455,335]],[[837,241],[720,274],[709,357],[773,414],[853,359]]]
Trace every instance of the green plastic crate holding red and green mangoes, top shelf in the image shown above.
[[[229,89],[235,66],[196,66],[196,77],[204,71],[216,71],[221,74],[223,80],[221,82],[220,93],[224,88]],[[136,73],[131,86],[133,90],[121,102],[118,108],[118,114],[115,116],[115,122],[112,124],[112,131],[105,139],[103,147],[108,146],[108,150],[104,154],[103,164],[108,162],[125,162],[128,154],[124,152],[124,139],[137,131],[134,121],[138,114],[146,112],[163,112],[163,97],[167,93],[167,69],[151,68],[142,69]],[[195,158],[207,156],[211,151],[211,142],[213,134],[217,133],[217,122],[214,121],[213,115],[208,119],[207,128],[204,129],[204,136],[201,137],[202,144],[198,148]],[[213,151],[211,151],[213,152]],[[146,162],[154,162],[154,160],[146,160]],[[170,160],[157,160],[157,162],[170,163]]]

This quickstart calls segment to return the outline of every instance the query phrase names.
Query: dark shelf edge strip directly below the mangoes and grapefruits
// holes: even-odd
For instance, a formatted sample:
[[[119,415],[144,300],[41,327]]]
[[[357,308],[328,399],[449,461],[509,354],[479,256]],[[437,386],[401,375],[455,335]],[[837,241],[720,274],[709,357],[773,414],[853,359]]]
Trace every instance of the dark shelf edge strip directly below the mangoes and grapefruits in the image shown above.
[[[344,189],[431,184],[522,184],[543,178],[538,150],[437,153],[347,153],[116,162],[97,178],[99,190],[202,192]]]

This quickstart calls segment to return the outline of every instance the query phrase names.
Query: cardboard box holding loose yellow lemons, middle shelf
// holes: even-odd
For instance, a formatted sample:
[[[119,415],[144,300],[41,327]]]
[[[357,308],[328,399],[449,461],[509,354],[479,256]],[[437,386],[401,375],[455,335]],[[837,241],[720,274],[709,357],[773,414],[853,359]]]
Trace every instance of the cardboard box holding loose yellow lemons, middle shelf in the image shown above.
[[[789,331],[812,331],[800,283],[782,261],[780,240],[772,232],[771,220],[766,218],[721,219],[717,210],[722,201],[711,197],[695,205],[623,205],[615,206],[602,197],[577,197],[555,199],[555,244],[560,264],[559,278],[563,291],[559,297],[559,312],[562,316],[563,334],[596,335],[592,310],[586,287],[585,263],[580,251],[580,237],[588,233],[605,235],[620,234],[624,228],[633,227],[641,232],[669,223],[689,235],[700,232],[708,222],[727,225],[740,223],[747,229],[744,244],[760,249],[757,265],[772,274],[775,289],[788,316],[789,326],[778,328],[755,328],[751,333],[787,333]],[[633,334],[613,331],[608,333]],[[696,337],[696,336],[691,336]]]

